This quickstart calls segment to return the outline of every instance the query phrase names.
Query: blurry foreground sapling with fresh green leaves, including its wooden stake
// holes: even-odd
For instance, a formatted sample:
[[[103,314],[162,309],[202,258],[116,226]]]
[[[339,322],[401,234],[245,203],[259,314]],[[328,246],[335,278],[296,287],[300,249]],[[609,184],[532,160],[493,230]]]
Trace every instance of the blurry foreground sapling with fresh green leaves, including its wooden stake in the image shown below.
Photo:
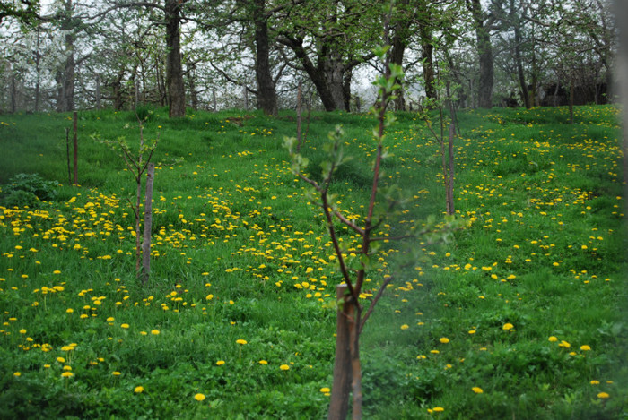
[[[391,8],[392,11],[392,8]],[[390,12],[388,12],[388,20]],[[343,131],[336,127],[336,131],[329,134],[330,142],[327,144],[327,158],[322,166],[322,181],[317,182],[304,173],[308,166],[308,159],[296,150],[297,141],[294,138],[286,138],[285,147],[292,158],[292,173],[312,186],[311,200],[323,210],[327,222],[327,230],[338,261],[338,269],[342,276],[343,284],[337,288],[338,293],[338,333],[336,338],[336,363],[334,367],[334,384],[329,406],[329,419],[344,419],[348,412],[349,394],[353,395],[353,418],[362,418],[362,367],[360,362],[360,334],[365,322],[373,312],[375,305],[382,296],[392,276],[386,276],[376,294],[371,299],[368,308],[362,306],[362,287],[368,270],[373,270],[381,256],[381,244],[391,240],[412,240],[418,236],[432,234],[428,241],[437,236],[442,237],[442,231],[436,233],[436,220],[431,218],[427,224],[416,222],[407,233],[400,236],[379,236],[379,230],[400,209],[404,199],[402,194],[394,187],[383,184],[384,176],[381,169],[382,160],[389,157],[388,147],[385,144],[385,131],[395,122],[395,116],[387,112],[388,105],[396,99],[399,89],[397,81],[403,80],[401,66],[392,64],[388,54],[388,24],[385,31],[385,46],[377,48],[374,53],[384,64],[384,74],[375,82],[379,88],[379,100],[371,112],[378,120],[378,126],[373,130],[373,140],[376,144],[375,159],[372,167],[372,186],[370,199],[366,207],[362,224],[345,217],[337,207],[334,196],[330,193],[330,186],[336,169],[351,157],[346,156],[343,150]],[[354,257],[347,255],[339,239],[339,229],[335,222],[355,232],[361,241],[360,252]],[[452,216],[447,218],[446,227],[455,227],[457,222]]]

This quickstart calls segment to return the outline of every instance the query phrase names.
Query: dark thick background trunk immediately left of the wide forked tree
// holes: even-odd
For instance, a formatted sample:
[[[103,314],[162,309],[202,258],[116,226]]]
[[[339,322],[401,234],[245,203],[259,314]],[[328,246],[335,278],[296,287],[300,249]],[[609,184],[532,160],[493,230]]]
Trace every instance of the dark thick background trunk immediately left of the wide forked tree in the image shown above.
[[[270,47],[268,43],[268,18],[265,13],[266,0],[255,0],[253,20],[255,22],[255,75],[257,78],[257,107],[267,116],[277,115],[277,92],[270,72]]]

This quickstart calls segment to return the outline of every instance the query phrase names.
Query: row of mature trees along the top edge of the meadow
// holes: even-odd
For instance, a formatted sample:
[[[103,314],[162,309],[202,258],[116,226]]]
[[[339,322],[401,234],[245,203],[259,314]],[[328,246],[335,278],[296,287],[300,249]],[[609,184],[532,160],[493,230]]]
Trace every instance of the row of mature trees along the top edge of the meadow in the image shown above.
[[[388,0],[0,0],[0,110],[141,104],[360,111],[375,100]],[[397,0],[397,109],[606,103],[615,21],[605,0]],[[447,87],[447,89],[446,89]],[[449,93],[446,93],[449,92]]]

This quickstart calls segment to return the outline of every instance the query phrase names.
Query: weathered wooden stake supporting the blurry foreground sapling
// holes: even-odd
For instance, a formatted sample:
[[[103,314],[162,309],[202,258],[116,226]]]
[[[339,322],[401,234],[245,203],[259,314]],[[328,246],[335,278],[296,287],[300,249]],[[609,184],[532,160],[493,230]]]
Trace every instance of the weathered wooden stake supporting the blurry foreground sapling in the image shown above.
[[[328,420],[345,420],[349,412],[351,392],[351,334],[349,323],[353,317],[353,304],[348,304],[347,285],[336,286],[338,311],[336,313],[336,358],[334,361],[334,383],[331,388]]]

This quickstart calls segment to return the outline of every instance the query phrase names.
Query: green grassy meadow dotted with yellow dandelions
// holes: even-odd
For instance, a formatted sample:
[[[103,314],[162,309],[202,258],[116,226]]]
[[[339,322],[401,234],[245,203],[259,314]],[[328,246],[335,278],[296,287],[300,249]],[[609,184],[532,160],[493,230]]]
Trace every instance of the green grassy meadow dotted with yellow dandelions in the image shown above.
[[[324,418],[340,275],[282,147],[294,114],[142,112],[146,139],[159,136],[145,286],[134,179],[101,142],[136,144],[135,114],[79,113],[80,186],[68,184],[71,116],[0,116],[0,418]],[[397,117],[386,180],[413,201],[384,235],[445,209],[438,142]],[[366,418],[628,417],[617,112],[568,118],[460,114],[456,211],[470,226],[412,244],[424,257],[410,270],[397,244],[382,250],[370,280],[395,281],[362,335]],[[318,176],[336,124],[355,159],[335,200],[360,220],[373,117],[315,113],[301,151]],[[13,207],[32,198],[8,194],[22,173],[62,185]],[[355,240],[342,236],[347,253]]]

